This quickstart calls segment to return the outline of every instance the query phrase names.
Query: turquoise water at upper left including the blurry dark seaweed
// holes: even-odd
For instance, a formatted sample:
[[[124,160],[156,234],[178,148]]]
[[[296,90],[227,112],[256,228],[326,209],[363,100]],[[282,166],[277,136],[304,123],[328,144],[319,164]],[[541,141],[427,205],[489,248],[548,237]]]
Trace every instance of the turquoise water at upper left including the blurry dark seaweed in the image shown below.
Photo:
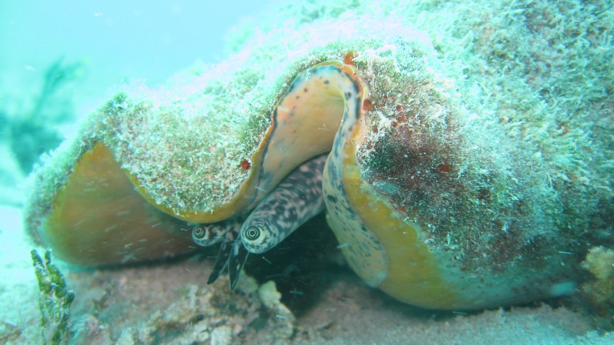
[[[15,126],[20,144],[14,149],[23,157],[22,171],[27,173],[38,155],[74,131],[77,118],[103,103],[114,86],[138,81],[154,87],[195,63],[218,63],[228,53],[224,44],[233,27],[266,6],[241,1],[221,7],[211,1],[154,7],[139,1],[2,2],[2,121],[29,120]],[[29,130],[37,133],[36,140],[25,138]]]

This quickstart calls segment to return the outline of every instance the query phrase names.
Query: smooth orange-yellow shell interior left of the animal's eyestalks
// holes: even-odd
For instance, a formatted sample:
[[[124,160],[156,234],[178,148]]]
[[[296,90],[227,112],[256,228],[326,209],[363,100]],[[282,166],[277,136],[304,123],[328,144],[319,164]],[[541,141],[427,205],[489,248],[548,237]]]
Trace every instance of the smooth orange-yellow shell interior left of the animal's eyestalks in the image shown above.
[[[154,260],[193,249],[181,222],[148,203],[102,143],[85,152],[37,231],[76,265]]]

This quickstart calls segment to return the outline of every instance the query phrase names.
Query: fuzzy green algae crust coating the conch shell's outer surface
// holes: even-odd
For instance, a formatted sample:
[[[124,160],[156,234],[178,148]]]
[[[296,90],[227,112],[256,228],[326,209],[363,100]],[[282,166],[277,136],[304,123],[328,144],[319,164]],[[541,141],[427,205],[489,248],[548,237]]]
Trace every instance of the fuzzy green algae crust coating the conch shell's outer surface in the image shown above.
[[[495,9],[503,7],[476,7],[484,15],[478,18],[488,21]],[[424,15],[440,23],[437,7],[432,10]],[[531,19],[524,18],[527,23]],[[498,33],[482,23],[472,25],[481,29],[476,34],[484,40],[468,37],[470,48],[451,34],[450,25],[419,31],[399,17],[348,13],[338,20],[316,20],[300,25],[300,39],[280,39],[289,32],[271,31],[254,40],[258,45],[244,46],[240,55],[183,87],[151,94],[127,90],[93,115],[69,145],[74,152],[87,152],[104,142],[159,209],[187,220],[221,220],[254,207],[274,187],[271,182],[263,191],[240,197],[261,161],[282,160],[261,157],[261,145],[290,82],[317,63],[344,60],[351,53],[357,83],[368,89],[369,100],[361,115],[362,137],[354,138],[347,179],[359,187],[349,188],[351,198],[382,210],[367,213],[373,216],[370,226],[394,222],[393,228],[413,228],[397,235],[384,228],[376,235],[402,246],[384,245],[394,269],[383,272],[383,280],[367,280],[386,284],[383,289],[400,300],[429,308],[483,308],[569,293],[589,242],[612,245],[607,215],[613,209],[614,160],[607,134],[612,121],[602,116],[603,110],[591,112],[588,106],[600,102],[607,107],[607,90],[601,98],[577,100],[583,108],[575,110],[585,112],[581,117],[549,115],[548,107],[561,110],[555,106],[564,101],[564,93],[556,93],[556,85],[544,93],[543,84],[532,85],[511,58],[494,55],[503,64],[500,70],[489,64],[486,56],[494,48],[486,36]],[[328,29],[340,26],[348,30]],[[541,42],[538,34],[527,37]],[[594,40],[599,33],[591,35]],[[514,37],[500,42],[521,45]],[[548,49],[553,48],[542,47]],[[595,53],[603,71],[612,45]],[[516,73],[506,74],[505,66]],[[611,74],[605,79],[613,80]],[[300,134],[308,136],[311,129]],[[590,138],[590,149],[583,138]],[[308,149],[313,155],[323,148]],[[276,179],[309,158],[284,154],[292,163]],[[72,156],[67,163],[62,155],[56,153],[35,174],[34,190],[41,196],[31,199],[31,228],[49,215],[66,171],[79,161]],[[45,233],[44,228],[39,231]],[[351,246],[342,250],[354,254]],[[400,257],[407,252],[416,257],[403,262]],[[413,279],[410,287],[384,282],[403,274],[400,281]],[[440,290],[422,289],[429,284]]]

